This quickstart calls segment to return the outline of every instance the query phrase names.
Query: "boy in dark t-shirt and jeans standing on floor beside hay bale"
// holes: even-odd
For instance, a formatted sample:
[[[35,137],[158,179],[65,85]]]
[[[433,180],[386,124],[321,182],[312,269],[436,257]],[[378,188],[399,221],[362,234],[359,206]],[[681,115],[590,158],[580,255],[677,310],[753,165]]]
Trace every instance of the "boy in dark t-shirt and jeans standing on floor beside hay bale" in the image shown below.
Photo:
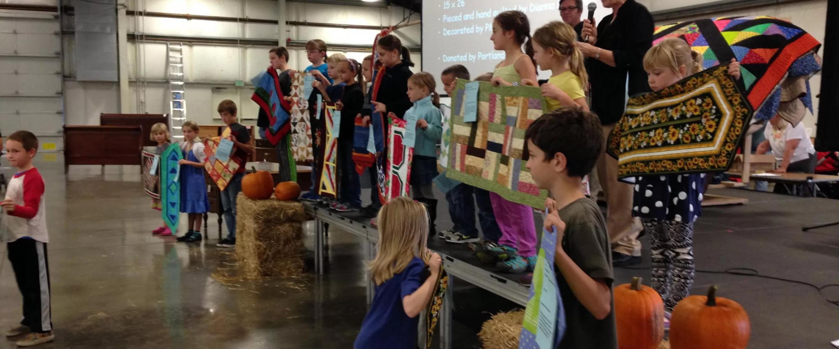
[[[231,154],[238,160],[239,169],[227,181],[227,187],[221,191],[221,208],[224,209],[224,219],[227,221],[227,238],[216,244],[218,247],[232,249],[236,247],[236,197],[242,192],[242,177],[245,176],[245,162],[248,162],[248,155],[253,154],[256,149],[250,144],[251,134],[248,128],[237,121],[237,106],[232,100],[222,100],[216,108],[221,115],[221,122],[230,129],[230,140],[236,146],[236,151]]]

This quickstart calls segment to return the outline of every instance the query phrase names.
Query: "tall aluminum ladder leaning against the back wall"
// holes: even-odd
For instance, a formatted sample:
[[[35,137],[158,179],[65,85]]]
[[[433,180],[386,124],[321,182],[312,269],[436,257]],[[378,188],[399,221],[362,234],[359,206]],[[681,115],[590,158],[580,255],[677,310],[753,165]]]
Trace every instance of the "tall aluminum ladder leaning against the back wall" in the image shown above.
[[[166,63],[169,64],[166,80],[169,81],[169,136],[171,140],[184,139],[183,125],[186,121],[186,100],[184,89],[184,44],[166,43]]]

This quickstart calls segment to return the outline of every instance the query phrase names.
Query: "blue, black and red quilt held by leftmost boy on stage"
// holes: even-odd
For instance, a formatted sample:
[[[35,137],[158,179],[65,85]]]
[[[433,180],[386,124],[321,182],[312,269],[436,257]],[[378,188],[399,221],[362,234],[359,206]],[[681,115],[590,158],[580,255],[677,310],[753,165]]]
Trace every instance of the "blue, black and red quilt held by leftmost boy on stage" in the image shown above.
[[[257,102],[265,114],[268,114],[268,123],[271,126],[265,132],[265,139],[274,146],[291,131],[291,102],[284,98],[283,90],[279,88],[279,73],[279,69],[268,68],[251,80],[256,88],[251,100]]]

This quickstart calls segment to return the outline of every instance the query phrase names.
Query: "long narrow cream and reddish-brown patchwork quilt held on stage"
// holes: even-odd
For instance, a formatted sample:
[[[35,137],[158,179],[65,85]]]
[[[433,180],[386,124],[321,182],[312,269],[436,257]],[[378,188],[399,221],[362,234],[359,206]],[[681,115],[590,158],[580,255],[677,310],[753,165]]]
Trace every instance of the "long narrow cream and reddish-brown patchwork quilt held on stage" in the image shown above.
[[[309,101],[303,96],[303,79],[307,74],[310,73],[291,73],[291,153],[298,162],[314,160]]]

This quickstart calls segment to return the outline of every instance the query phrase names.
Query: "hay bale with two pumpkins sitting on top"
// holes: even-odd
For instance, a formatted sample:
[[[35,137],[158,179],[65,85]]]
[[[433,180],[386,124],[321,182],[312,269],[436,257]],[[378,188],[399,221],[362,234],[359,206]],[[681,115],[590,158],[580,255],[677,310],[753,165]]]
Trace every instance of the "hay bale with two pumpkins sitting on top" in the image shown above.
[[[303,204],[236,198],[236,256],[240,275],[258,280],[303,275]]]

